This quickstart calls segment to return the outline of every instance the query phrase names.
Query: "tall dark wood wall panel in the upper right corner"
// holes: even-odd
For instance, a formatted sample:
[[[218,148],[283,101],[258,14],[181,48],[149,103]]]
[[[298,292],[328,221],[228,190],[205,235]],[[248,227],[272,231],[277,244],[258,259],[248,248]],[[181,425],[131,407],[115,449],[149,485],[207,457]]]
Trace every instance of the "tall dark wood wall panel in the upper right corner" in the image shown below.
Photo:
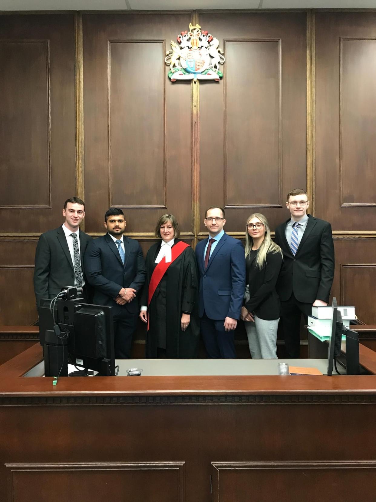
[[[376,13],[318,12],[315,27],[316,215],[330,221],[333,230],[374,230],[373,207],[342,206],[375,202],[370,166],[376,108],[369,89],[376,44],[361,39],[376,39]]]

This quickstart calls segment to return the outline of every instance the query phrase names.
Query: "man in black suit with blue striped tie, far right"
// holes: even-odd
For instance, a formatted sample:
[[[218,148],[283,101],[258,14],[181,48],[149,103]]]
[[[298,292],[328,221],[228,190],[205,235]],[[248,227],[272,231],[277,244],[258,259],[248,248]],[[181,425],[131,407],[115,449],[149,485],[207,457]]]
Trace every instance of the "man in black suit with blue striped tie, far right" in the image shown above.
[[[307,215],[304,190],[287,194],[291,218],[276,228],[275,241],[283,251],[276,289],[282,304],[282,326],[287,357],[299,357],[300,318],[312,305],[327,305],[334,277],[334,246],[330,223]]]

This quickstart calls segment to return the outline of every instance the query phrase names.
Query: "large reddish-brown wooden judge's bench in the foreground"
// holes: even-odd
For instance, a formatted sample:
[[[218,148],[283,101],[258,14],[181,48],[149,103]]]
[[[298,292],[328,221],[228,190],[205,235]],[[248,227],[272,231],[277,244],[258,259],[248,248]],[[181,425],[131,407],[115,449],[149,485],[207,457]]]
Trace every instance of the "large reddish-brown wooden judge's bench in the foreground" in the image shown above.
[[[0,366],[4,502],[375,500],[376,353],[363,345],[359,376],[143,360],[141,376],[54,386],[41,360],[35,344]]]

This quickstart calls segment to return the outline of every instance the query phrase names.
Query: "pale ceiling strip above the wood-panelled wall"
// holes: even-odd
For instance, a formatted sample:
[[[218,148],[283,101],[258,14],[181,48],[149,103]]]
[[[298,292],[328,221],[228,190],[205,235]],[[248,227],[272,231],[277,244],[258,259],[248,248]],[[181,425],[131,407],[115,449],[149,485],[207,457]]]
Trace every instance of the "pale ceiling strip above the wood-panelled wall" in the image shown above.
[[[0,0],[0,11],[376,9],[376,0]]]

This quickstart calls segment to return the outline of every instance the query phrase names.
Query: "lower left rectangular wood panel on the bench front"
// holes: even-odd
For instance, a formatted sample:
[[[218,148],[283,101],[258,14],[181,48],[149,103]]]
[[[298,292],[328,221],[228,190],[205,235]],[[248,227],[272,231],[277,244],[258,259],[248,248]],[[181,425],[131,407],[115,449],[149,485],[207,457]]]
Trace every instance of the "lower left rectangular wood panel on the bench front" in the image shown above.
[[[30,486],[39,486],[38,502],[61,502],[80,495],[92,502],[142,500],[183,502],[183,463],[16,464],[8,465],[12,502],[30,502]],[[79,488],[78,488],[79,487]],[[36,500],[36,499],[34,499]]]

